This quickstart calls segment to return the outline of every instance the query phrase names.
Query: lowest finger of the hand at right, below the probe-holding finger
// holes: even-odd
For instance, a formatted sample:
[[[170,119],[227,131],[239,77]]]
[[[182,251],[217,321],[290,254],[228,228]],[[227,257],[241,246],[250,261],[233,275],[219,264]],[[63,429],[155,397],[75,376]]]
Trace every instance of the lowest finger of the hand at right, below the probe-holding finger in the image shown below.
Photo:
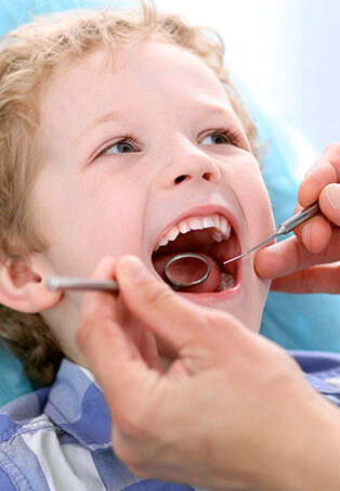
[[[272,281],[273,292],[340,294],[340,263],[315,266]]]

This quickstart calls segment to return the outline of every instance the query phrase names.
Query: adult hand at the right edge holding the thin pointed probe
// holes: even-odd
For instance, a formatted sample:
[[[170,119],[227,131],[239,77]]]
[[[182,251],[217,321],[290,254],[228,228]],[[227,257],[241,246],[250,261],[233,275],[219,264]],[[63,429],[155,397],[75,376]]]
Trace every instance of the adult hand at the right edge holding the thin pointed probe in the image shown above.
[[[308,172],[298,201],[297,210],[318,201],[323,215],[298,228],[296,236],[260,250],[257,272],[274,277],[275,290],[340,294],[340,143],[328,146]]]

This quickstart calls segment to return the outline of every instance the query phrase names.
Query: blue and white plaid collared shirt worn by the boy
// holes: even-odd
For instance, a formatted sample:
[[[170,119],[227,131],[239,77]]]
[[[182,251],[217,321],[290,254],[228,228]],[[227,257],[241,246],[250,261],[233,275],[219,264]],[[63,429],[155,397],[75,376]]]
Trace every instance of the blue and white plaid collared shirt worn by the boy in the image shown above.
[[[293,356],[311,384],[340,405],[340,356]],[[110,423],[91,373],[65,359],[51,388],[0,410],[0,490],[197,490],[131,474],[113,452]]]

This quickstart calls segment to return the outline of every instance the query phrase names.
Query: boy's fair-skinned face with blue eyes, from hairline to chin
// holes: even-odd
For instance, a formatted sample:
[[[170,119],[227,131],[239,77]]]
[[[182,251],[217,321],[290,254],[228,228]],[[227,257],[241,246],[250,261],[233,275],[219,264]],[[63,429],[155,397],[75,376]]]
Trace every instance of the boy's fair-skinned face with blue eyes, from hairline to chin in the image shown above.
[[[51,271],[89,275],[104,256],[133,254],[156,274],[154,249],[176,224],[210,231],[180,234],[157,255],[206,251],[219,262],[272,233],[258,163],[212,70],[158,41],[121,50],[114,68],[105,56],[64,66],[41,94],[44,167],[35,196]],[[232,238],[218,246],[211,231],[224,227],[225,237],[230,225]],[[232,288],[180,295],[257,331],[269,283],[252,255],[230,272]],[[71,322],[79,298],[61,300]]]

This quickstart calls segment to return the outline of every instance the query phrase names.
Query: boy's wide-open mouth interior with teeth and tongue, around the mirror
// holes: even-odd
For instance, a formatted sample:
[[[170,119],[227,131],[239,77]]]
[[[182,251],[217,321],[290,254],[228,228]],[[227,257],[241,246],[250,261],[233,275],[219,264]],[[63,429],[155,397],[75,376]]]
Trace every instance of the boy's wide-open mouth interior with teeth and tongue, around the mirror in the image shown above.
[[[188,293],[218,293],[232,288],[237,283],[237,261],[223,264],[223,261],[240,253],[239,243],[230,221],[221,214],[193,216],[180,220],[158,241],[153,253],[153,264],[157,273],[166,281],[165,266],[178,254],[195,253],[205,257],[210,264],[208,279],[199,285],[185,287]],[[183,263],[181,281],[192,281],[193,269],[197,261]]]

